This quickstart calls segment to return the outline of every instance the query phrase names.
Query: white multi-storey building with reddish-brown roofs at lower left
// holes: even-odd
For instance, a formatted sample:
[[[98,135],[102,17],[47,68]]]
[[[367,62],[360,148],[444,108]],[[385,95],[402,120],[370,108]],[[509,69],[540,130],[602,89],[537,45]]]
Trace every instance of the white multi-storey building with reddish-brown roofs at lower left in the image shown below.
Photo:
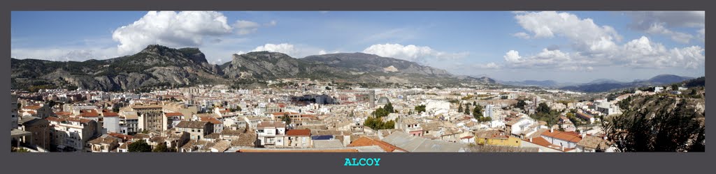
[[[98,134],[97,122],[89,119],[49,117],[47,121],[54,151],[84,151],[87,141]]]

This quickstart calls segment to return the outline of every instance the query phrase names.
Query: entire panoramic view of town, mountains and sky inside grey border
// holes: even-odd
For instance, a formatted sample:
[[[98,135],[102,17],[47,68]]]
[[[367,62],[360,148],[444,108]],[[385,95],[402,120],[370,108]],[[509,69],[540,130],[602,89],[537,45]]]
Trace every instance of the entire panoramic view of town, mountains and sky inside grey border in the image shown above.
[[[377,29],[354,14],[382,21],[387,11],[247,12],[239,16],[254,21],[233,24],[237,11],[14,11],[11,151],[704,152],[703,12],[391,11],[388,17],[506,18],[495,28],[515,42],[495,41],[504,48],[493,55],[480,52],[494,48],[422,46],[430,34],[393,26],[352,41],[367,45],[338,44],[329,38],[353,36],[296,29],[304,26],[288,17],[318,28],[313,20],[335,15]],[[79,45],[86,48],[36,46],[74,36],[33,41],[45,31],[24,22],[92,13],[139,18],[98,34],[111,41],[85,38]],[[278,29],[281,17],[291,31]],[[420,22],[411,20],[405,23]],[[309,31],[326,44],[304,41]],[[304,42],[254,43],[285,32],[296,35],[286,40]],[[490,36],[470,43],[501,37],[480,32]],[[437,37],[459,45],[465,36]],[[404,45],[411,41],[421,46]]]

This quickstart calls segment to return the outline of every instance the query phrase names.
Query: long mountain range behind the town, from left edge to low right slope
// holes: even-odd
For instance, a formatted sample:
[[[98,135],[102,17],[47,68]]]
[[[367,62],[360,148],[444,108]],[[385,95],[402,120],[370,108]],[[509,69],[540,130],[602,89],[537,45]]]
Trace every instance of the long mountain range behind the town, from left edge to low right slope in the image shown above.
[[[332,53],[293,58],[257,51],[233,54],[228,63],[206,61],[198,48],[150,45],[139,53],[105,60],[44,61],[11,58],[14,89],[86,88],[125,91],[157,86],[236,84],[280,78],[350,83],[496,83],[487,77],[456,76],[419,63],[367,53]]]

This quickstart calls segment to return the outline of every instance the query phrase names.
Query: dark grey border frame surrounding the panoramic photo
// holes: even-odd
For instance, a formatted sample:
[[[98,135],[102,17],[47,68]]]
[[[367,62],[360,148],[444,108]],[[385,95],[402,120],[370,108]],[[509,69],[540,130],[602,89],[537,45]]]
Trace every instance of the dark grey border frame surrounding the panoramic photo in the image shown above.
[[[707,11],[706,24],[713,26],[715,3],[697,0],[502,0],[502,1],[339,1],[339,0],[24,0],[3,1],[0,5],[0,41],[2,58],[0,74],[9,81],[10,15],[24,10],[569,10],[569,11],[632,11],[632,10],[699,10]],[[715,10],[716,11],[716,10]],[[710,27],[707,27],[710,29]],[[706,39],[710,40],[710,39]],[[711,49],[714,46],[706,45]],[[706,61],[707,66],[714,61]],[[716,70],[706,69],[709,76]],[[9,83],[0,90],[9,91]],[[708,91],[716,90],[707,86]],[[0,104],[0,111],[9,110],[9,93]],[[712,108],[713,103],[707,103]],[[713,122],[708,119],[708,122]],[[6,124],[0,124],[6,128]],[[709,134],[714,131],[707,129]],[[2,137],[9,135],[3,134]],[[711,149],[713,145],[708,145]],[[9,149],[8,143],[2,148]],[[0,149],[2,149],[0,148]],[[10,153],[4,150],[4,166],[11,173],[695,173],[713,170],[706,153]],[[712,152],[713,153],[713,152]],[[344,167],[344,158],[382,158],[380,166]],[[713,158],[710,158],[713,159]]]

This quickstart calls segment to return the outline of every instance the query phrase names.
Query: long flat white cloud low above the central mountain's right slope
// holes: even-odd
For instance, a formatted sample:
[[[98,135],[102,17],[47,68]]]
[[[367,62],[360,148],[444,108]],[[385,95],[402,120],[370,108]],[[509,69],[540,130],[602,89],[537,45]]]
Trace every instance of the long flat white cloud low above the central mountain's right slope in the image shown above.
[[[415,46],[401,44],[374,44],[365,48],[363,53],[372,53],[378,56],[400,58],[406,61],[425,63],[430,58],[453,59],[463,58],[469,53],[446,53],[433,50],[428,46]]]

